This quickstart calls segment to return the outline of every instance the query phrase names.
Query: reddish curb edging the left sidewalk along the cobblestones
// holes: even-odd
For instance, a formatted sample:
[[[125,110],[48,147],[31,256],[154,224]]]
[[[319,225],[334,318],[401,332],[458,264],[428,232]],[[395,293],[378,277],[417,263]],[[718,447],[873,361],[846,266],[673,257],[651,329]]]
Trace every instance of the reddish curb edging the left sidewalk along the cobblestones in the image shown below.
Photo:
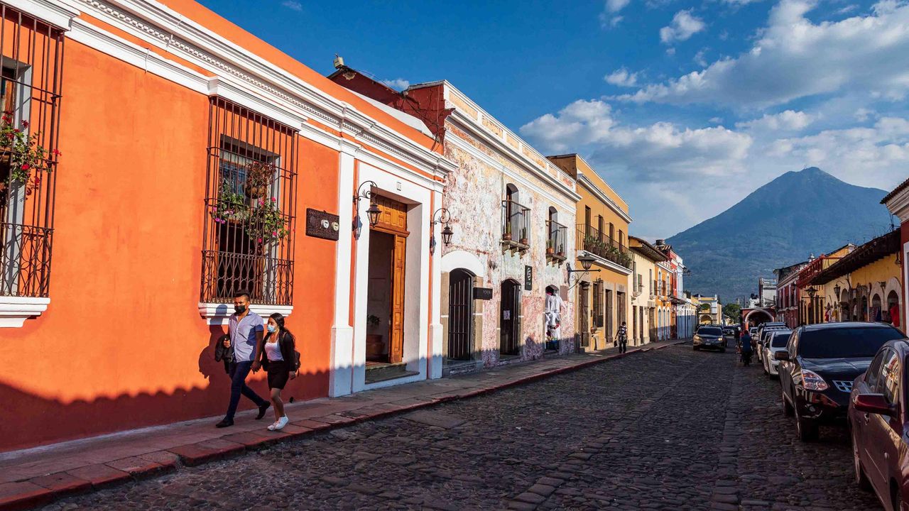
[[[375,409],[366,414],[356,411],[340,412],[329,416],[303,419],[285,426],[280,433],[258,433],[246,431],[234,435],[222,436],[195,444],[176,446],[164,451],[155,451],[141,456],[126,457],[106,464],[82,466],[72,470],[57,472],[48,476],[36,476],[25,481],[0,484],[0,511],[19,511],[36,506],[45,506],[67,496],[96,491],[130,481],[139,481],[154,476],[176,472],[181,466],[200,466],[228,457],[254,452],[267,446],[273,446],[287,440],[294,440],[317,433],[327,433],[345,426],[396,416],[427,406],[440,403],[469,399],[475,396],[491,394],[504,388],[521,386],[550,376],[563,375],[602,364],[610,360],[624,358],[636,353],[656,351],[669,346],[684,344],[686,340],[670,342],[663,346],[637,347],[624,354],[611,354],[593,360],[587,360],[574,366],[557,367],[542,373],[524,376],[505,382],[498,386],[479,388],[464,394],[444,397],[417,397],[418,402],[404,406],[382,405],[385,409]],[[376,406],[379,408],[379,406]],[[323,419],[323,420],[317,420]]]

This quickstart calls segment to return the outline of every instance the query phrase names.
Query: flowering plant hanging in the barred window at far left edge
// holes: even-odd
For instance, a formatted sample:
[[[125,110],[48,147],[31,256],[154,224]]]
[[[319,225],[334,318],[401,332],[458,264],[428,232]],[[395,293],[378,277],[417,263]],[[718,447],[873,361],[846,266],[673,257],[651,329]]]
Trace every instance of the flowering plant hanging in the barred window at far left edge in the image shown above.
[[[9,173],[0,182],[0,192],[12,185],[25,185],[25,194],[41,185],[41,172],[50,170],[48,156],[51,154],[38,144],[40,133],[28,135],[28,121],[15,124],[13,112],[5,111],[0,116],[0,162],[9,165]],[[60,155],[57,150],[54,156]]]

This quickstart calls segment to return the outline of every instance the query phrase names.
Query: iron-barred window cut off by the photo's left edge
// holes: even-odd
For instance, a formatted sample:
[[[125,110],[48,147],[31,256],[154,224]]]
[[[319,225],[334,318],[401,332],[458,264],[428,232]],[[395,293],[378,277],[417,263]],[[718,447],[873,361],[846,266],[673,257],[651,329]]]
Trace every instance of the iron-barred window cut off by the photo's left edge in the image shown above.
[[[0,296],[47,297],[64,35],[7,5],[0,21]]]

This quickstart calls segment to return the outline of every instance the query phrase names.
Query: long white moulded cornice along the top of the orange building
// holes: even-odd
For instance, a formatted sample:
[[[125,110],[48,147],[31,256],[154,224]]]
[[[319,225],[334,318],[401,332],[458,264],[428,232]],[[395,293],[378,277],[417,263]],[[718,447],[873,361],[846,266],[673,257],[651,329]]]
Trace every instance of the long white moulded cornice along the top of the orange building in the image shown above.
[[[224,85],[267,102],[291,119],[313,118],[438,177],[456,168],[442,155],[166,5],[153,0],[71,1],[78,2],[86,14],[210,71]]]

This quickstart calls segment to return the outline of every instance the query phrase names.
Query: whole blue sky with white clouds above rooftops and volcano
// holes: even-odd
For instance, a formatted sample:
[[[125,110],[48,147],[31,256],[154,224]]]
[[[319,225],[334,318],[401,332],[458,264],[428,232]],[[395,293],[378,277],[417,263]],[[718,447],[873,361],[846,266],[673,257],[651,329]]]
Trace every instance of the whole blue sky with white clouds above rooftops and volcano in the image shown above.
[[[909,5],[830,0],[202,0],[328,74],[445,78],[544,154],[578,152],[667,237],[819,166],[909,176]]]

